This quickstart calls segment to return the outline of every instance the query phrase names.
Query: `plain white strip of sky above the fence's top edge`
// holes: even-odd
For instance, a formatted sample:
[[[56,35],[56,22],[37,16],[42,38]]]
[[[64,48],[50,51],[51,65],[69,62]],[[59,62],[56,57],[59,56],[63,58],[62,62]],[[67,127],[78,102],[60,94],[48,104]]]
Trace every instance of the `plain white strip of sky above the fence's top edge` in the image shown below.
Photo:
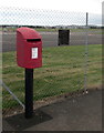
[[[0,7],[102,13],[104,0],[1,0]]]

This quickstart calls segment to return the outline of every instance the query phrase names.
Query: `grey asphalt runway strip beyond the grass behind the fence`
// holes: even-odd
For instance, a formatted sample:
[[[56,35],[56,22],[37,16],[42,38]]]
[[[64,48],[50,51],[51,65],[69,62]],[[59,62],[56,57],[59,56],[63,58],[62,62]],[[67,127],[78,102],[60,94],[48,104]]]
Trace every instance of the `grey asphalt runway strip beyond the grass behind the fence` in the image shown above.
[[[44,47],[58,47],[59,33],[58,32],[40,32],[42,35],[43,48]],[[101,44],[102,34],[87,33],[89,44]],[[2,34],[2,51],[15,51],[15,33],[3,33]],[[70,34],[70,45],[85,45],[86,32],[72,32]]]

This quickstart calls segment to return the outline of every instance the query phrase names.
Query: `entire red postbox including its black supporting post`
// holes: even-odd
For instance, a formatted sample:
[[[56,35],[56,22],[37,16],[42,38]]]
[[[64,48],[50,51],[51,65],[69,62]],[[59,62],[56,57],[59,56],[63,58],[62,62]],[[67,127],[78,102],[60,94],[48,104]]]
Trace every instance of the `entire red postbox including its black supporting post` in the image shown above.
[[[25,117],[33,115],[33,69],[42,66],[42,38],[33,29],[17,30],[17,63],[25,69]]]

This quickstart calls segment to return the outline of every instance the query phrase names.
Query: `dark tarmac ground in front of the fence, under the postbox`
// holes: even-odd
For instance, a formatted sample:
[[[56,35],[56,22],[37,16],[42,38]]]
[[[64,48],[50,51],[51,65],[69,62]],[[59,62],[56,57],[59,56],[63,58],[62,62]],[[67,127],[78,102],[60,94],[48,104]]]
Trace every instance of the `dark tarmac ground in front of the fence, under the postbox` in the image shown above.
[[[34,112],[3,119],[3,131],[102,131],[102,91],[66,98]]]

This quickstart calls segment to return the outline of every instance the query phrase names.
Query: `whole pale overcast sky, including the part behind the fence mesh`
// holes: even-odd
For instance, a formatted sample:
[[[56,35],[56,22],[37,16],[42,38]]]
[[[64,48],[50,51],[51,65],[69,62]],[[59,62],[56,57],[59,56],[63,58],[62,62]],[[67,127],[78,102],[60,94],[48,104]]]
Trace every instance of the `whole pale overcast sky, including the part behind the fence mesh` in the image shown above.
[[[101,25],[103,0],[1,0],[0,24]],[[40,9],[40,10],[39,10]]]

